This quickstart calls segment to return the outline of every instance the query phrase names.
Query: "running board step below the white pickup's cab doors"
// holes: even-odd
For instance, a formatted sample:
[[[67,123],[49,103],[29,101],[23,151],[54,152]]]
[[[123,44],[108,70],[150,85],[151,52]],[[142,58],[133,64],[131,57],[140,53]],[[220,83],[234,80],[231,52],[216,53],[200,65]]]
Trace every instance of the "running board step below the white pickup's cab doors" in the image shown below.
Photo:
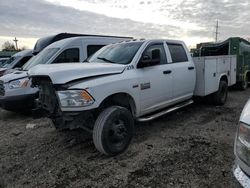
[[[173,112],[175,110],[178,110],[180,108],[188,106],[188,105],[192,104],[193,102],[194,102],[193,100],[188,100],[188,101],[179,103],[179,104],[177,104],[177,105],[175,105],[173,107],[164,109],[163,111],[157,112],[155,114],[151,114],[151,115],[146,115],[146,116],[140,117],[140,118],[137,119],[137,121],[139,121],[139,122],[146,122],[146,121],[154,120],[154,119],[156,119],[158,117],[161,117],[161,116],[163,116],[165,114],[168,114],[170,112]]]

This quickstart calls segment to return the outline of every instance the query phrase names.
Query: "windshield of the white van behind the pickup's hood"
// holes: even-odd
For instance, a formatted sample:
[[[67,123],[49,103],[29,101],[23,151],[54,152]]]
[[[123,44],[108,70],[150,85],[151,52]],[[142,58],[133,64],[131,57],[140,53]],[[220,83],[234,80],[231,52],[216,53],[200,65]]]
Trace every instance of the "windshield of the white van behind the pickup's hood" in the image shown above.
[[[29,70],[30,68],[39,65],[46,64],[48,60],[59,50],[59,48],[47,48],[42,50],[34,58],[30,59],[24,66],[23,70]]]

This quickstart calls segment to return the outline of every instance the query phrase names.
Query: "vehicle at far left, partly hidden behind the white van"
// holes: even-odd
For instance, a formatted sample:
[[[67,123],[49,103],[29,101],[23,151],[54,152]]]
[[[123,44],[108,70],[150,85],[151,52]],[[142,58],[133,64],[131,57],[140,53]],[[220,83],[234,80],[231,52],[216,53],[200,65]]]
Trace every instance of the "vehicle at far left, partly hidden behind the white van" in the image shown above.
[[[14,54],[2,64],[0,76],[13,72],[12,69],[21,68],[32,56],[32,50],[23,50]]]

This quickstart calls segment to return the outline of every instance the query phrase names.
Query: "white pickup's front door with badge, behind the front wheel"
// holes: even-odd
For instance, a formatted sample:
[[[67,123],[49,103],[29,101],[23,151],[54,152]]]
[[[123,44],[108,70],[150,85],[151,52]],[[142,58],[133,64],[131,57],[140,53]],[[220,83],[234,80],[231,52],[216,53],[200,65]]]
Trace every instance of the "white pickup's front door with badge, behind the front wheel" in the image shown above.
[[[160,62],[137,69],[138,74],[140,74],[139,87],[142,114],[150,113],[167,106],[173,96],[171,65],[167,62],[163,43],[148,45],[142,57],[153,59],[152,51],[155,49],[160,50]]]

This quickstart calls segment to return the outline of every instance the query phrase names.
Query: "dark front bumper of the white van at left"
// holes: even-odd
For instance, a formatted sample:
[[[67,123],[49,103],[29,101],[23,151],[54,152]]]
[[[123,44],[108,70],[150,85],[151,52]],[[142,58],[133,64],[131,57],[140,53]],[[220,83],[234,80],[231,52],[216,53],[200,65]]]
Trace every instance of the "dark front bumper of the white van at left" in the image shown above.
[[[29,110],[34,107],[38,93],[0,97],[0,107],[9,111]]]

